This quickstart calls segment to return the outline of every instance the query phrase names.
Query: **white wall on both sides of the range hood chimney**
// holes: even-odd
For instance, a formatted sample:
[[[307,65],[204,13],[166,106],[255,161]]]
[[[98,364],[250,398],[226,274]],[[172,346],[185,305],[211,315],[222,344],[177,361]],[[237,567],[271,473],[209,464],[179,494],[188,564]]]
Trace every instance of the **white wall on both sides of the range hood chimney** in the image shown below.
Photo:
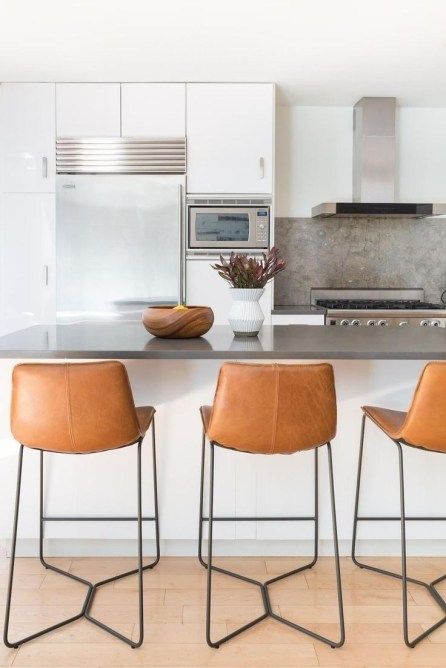
[[[279,217],[309,217],[321,202],[351,201],[351,107],[279,107]],[[446,109],[398,109],[398,199],[446,201]]]

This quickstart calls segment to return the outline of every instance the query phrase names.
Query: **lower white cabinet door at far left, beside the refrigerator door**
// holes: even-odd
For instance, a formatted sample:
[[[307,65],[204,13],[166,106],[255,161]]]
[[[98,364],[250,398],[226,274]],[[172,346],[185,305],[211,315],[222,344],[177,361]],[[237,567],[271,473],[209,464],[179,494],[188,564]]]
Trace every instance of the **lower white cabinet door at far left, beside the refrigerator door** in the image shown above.
[[[0,215],[0,334],[55,318],[55,195],[5,194]]]

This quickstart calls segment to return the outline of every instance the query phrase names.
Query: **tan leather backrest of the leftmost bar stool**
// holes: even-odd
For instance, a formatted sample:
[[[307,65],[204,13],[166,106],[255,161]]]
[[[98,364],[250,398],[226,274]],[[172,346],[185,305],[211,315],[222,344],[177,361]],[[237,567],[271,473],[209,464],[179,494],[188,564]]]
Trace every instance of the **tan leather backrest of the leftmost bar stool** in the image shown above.
[[[12,374],[11,431],[31,448],[96,452],[140,437],[120,362],[19,364]]]

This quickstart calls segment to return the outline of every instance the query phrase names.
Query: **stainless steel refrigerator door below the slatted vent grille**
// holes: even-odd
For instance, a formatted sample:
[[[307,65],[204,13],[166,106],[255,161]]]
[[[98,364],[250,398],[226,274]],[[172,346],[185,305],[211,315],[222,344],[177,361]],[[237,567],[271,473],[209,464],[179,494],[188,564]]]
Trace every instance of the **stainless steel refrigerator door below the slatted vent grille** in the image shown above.
[[[183,292],[182,174],[59,174],[57,317],[139,317]]]

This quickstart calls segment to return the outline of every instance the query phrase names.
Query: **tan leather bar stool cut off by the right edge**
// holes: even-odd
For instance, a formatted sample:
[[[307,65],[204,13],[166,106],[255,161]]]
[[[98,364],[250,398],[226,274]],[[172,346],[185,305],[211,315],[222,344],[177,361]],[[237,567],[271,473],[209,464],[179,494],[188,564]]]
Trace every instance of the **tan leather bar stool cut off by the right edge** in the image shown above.
[[[415,647],[423,638],[426,638],[432,631],[446,622],[446,601],[437,591],[436,586],[446,578],[446,574],[433,580],[433,582],[423,582],[415,580],[407,575],[406,562],[406,521],[431,522],[434,520],[446,520],[446,517],[408,517],[405,511],[404,501],[404,465],[402,445],[408,445],[414,448],[420,448],[426,452],[446,453],[446,363],[431,362],[425,368],[418,381],[412,404],[407,413],[402,411],[389,410],[388,408],[378,408],[376,406],[363,406],[363,417],[361,426],[361,442],[359,448],[358,460],[358,478],[356,483],[355,515],[353,522],[353,541],[352,541],[352,559],[360,568],[366,568],[375,573],[390,575],[402,581],[403,589],[403,632],[404,642],[408,647]],[[365,420],[369,418],[374,422],[391,441],[398,450],[399,462],[399,486],[400,486],[400,515],[398,516],[366,516],[359,515],[359,492],[361,486],[362,459],[364,452],[364,430]],[[369,566],[360,562],[356,557],[356,537],[358,522],[382,522],[398,521],[401,523],[401,574],[392,571]],[[431,594],[434,601],[439,605],[443,612],[443,617],[430,626],[426,631],[418,635],[413,640],[409,638],[409,622],[407,612],[407,583],[425,587]]]

